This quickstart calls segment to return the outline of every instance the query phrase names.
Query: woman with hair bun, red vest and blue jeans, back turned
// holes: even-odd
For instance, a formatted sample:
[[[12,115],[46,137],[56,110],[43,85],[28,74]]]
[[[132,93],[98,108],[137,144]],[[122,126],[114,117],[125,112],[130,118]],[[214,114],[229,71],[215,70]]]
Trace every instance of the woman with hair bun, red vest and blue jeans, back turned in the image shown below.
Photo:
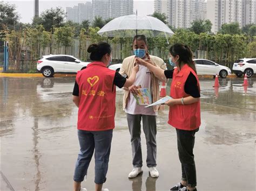
[[[139,67],[134,66],[129,79],[107,68],[112,61],[111,47],[107,43],[92,44],[87,49],[93,61],[77,73],[73,102],[78,107],[78,140],[80,152],[75,167],[74,191],[83,190],[81,182],[87,174],[95,151],[96,191],[106,181],[109,164],[114,115],[116,112],[116,86],[130,87]]]

